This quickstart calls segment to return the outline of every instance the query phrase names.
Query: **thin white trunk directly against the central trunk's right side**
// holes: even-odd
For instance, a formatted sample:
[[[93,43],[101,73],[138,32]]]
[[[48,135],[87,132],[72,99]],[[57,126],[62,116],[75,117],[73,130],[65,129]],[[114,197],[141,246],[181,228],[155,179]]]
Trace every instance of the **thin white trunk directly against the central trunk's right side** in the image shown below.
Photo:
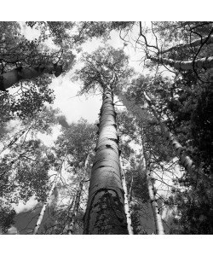
[[[125,210],[126,220],[127,220],[127,229],[129,231],[129,235],[134,235],[133,229],[132,229],[131,216],[130,216],[130,205],[128,200],[126,179],[125,179],[125,174],[124,174],[121,160],[120,160],[120,169],[121,169],[121,175],[122,175],[122,186],[124,189],[124,210]]]

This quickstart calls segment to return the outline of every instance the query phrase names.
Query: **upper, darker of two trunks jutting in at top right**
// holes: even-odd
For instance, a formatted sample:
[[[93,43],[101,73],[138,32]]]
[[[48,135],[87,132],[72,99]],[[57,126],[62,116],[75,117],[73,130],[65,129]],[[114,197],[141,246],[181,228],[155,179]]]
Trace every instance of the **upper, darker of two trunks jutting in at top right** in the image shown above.
[[[179,50],[179,49],[186,49],[186,48],[192,48],[199,46],[200,44],[213,44],[213,36],[210,37],[205,37],[205,38],[199,38],[197,40],[194,40],[191,43],[188,44],[178,44],[176,46],[170,47],[170,49],[164,49],[161,51],[161,54],[163,55],[164,53],[170,52],[172,50]]]

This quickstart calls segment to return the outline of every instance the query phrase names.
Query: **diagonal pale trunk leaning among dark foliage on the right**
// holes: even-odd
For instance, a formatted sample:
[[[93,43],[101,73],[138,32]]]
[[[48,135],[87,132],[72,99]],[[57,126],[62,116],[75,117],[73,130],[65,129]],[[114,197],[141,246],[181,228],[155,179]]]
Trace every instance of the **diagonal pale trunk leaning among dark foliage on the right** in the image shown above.
[[[187,155],[187,152],[186,152],[185,148],[183,148],[181,146],[181,144],[178,143],[175,136],[170,132],[167,125],[165,125],[164,121],[162,121],[161,118],[158,116],[158,113],[156,112],[155,108],[153,107],[153,103],[151,102],[150,98],[147,96],[146,92],[143,92],[143,94],[144,94],[144,96],[147,100],[147,103],[148,103],[149,107],[151,108],[151,110],[153,112],[153,115],[158,120],[158,123],[160,125],[162,133],[169,140],[172,147],[176,150],[177,156],[180,157],[182,166],[185,167],[186,171],[194,179],[197,179],[198,174],[199,174],[199,176],[202,176],[202,178],[204,178],[204,180],[206,180],[207,177],[205,177],[203,175],[203,173],[200,173],[199,170],[197,168],[195,168],[195,164],[193,163],[193,160]]]

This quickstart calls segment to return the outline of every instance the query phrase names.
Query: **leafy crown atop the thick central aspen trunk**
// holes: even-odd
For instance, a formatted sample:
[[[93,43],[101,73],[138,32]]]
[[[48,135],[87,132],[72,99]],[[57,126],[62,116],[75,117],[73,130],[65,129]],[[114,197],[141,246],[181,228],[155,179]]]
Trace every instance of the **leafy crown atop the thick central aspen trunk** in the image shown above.
[[[113,49],[111,46],[96,49],[92,54],[84,54],[81,61],[84,66],[76,71],[74,77],[75,80],[83,81],[80,94],[88,93],[89,90],[95,92],[99,86],[102,90],[106,86],[118,90],[132,73],[124,50]]]

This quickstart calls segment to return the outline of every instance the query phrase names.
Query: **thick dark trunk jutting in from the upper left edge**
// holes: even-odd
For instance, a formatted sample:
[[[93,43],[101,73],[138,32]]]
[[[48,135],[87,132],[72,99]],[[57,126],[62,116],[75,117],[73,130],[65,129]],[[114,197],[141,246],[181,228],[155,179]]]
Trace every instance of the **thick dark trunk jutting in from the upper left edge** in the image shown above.
[[[0,90],[6,91],[12,85],[20,82],[20,80],[36,79],[43,73],[55,74],[55,77],[62,73],[62,66],[53,64],[49,66],[38,67],[17,67],[7,73],[0,75]]]

